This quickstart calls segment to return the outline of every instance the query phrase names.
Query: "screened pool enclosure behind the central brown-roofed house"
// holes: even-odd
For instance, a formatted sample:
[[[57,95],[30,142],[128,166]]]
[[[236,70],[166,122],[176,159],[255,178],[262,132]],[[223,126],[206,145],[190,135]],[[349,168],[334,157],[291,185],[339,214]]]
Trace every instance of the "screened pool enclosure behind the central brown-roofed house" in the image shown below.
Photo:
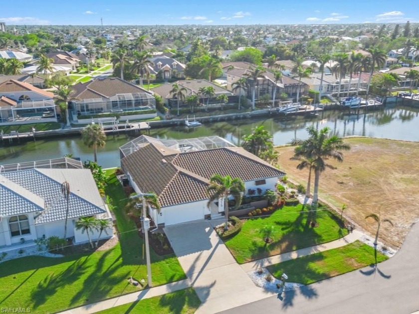
[[[134,153],[147,143],[163,145],[167,148],[182,153],[191,151],[204,151],[221,147],[235,147],[234,144],[231,144],[219,136],[209,136],[184,140],[164,140],[142,135],[119,148],[121,158]]]

